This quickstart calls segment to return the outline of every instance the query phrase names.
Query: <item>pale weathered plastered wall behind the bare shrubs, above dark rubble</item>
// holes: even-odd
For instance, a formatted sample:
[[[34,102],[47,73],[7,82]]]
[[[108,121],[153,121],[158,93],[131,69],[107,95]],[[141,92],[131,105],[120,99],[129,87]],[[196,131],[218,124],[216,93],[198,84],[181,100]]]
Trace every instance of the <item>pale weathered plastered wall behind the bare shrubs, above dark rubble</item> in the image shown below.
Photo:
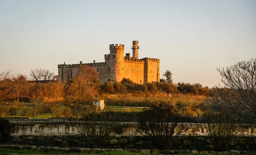
[[[75,135],[78,134],[76,126],[79,123],[76,121],[15,121],[10,122],[11,135]],[[182,135],[205,135],[202,130],[202,124],[184,123],[189,129]],[[118,129],[112,135],[134,135],[141,136],[142,131],[138,128],[137,122],[118,122]],[[206,130],[206,129],[204,129]],[[256,136],[256,124],[243,124],[243,136]]]

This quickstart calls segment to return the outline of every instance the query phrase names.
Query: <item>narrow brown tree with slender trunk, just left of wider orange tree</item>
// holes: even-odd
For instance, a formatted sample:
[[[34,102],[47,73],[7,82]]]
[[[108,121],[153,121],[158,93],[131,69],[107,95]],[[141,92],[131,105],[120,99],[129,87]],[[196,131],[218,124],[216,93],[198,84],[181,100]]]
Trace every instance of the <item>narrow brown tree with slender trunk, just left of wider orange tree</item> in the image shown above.
[[[38,110],[38,104],[41,103],[42,101],[42,88],[41,85],[32,83],[29,85],[28,89],[28,98],[30,102],[33,104],[32,109],[34,109],[34,121],[35,121],[35,116],[36,112]]]

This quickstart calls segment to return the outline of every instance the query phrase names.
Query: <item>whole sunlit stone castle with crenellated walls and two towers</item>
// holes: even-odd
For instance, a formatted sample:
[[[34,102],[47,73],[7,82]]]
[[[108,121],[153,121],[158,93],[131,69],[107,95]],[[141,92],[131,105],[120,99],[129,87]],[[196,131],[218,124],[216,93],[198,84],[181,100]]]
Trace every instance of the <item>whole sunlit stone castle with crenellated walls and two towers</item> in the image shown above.
[[[61,82],[72,79],[80,65],[88,65],[94,68],[99,73],[101,82],[114,81],[120,82],[123,78],[129,78],[133,82],[143,84],[144,82],[159,82],[160,81],[160,59],[143,58],[139,59],[138,41],[133,41],[131,49],[133,56],[130,53],[125,54],[125,45],[109,45],[110,54],[105,54],[105,62],[95,62],[83,64],[58,65],[58,79]]]

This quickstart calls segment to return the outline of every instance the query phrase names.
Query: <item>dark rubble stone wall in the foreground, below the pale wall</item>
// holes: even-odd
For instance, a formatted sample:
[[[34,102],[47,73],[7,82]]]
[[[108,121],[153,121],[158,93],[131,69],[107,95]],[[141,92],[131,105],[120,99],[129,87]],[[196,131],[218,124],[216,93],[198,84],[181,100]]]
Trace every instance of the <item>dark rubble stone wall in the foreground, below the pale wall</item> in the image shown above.
[[[10,144],[50,146],[50,147],[89,147],[80,135],[15,135]],[[108,136],[102,140],[102,147],[108,149],[157,149],[154,138],[148,136]],[[207,136],[175,136],[168,150],[215,150]],[[256,151],[256,136],[239,136],[232,140],[230,149]]]

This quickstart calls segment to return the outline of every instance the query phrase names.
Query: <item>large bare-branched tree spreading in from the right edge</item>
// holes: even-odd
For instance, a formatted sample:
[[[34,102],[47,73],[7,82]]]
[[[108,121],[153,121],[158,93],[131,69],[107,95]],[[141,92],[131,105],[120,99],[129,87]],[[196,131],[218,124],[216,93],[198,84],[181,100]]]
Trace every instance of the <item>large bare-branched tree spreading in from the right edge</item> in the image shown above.
[[[256,59],[217,70],[224,87],[216,87],[206,104],[220,113],[256,123]]]

